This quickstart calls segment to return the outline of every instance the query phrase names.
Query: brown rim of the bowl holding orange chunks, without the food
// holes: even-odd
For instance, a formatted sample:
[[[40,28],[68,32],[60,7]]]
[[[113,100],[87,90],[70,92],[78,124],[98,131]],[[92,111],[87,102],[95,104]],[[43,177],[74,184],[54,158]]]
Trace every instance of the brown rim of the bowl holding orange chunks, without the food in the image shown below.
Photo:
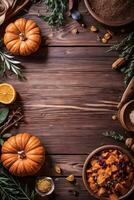
[[[93,197],[95,197],[96,199],[108,200],[108,198],[103,198],[103,197],[100,198],[100,197],[98,197],[95,193],[92,192],[92,190],[90,189],[89,184],[88,184],[88,182],[87,182],[86,170],[87,170],[87,167],[88,167],[88,165],[89,165],[90,160],[92,159],[93,156],[95,156],[95,154],[97,154],[97,153],[99,153],[99,152],[101,152],[101,151],[103,151],[103,150],[109,150],[109,149],[115,149],[115,150],[117,149],[117,150],[121,151],[122,153],[126,154],[126,155],[130,158],[130,160],[131,160],[131,162],[133,163],[133,166],[134,166],[134,158],[133,158],[133,156],[131,156],[131,154],[130,154],[127,150],[123,149],[122,147],[116,146],[116,145],[104,145],[104,146],[102,146],[102,147],[97,148],[97,149],[94,150],[93,152],[91,152],[91,153],[89,154],[89,156],[87,157],[85,163],[84,163],[83,172],[82,172],[82,178],[83,178],[83,183],[84,183],[85,188],[86,188],[87,191],[88,191]],[[133,184],[132,184],[132,187],[130,188],[130,190],[129,190],[125,195],[119,197],[119,200],[124,200],[124,199],[125,199],[126,197],[128,197],[133,191],[134,191],[134,180],[133,180]]]

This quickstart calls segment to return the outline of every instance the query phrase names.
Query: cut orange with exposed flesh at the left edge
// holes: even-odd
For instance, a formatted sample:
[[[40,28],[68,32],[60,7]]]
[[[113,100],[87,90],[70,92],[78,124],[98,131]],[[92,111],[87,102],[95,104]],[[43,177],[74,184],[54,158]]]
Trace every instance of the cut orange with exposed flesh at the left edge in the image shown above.
[[[0,102],[10,104],[15,101],[16,91],[12,85],[8,83],[0,84]]]

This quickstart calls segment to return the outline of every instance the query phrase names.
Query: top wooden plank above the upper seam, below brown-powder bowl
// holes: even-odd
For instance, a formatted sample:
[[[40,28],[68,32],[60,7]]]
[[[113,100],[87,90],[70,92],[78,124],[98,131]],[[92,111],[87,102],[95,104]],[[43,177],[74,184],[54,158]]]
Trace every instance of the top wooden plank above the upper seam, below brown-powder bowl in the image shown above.
[[[84,23],[86,24],[86,28],[82,28],[78,22],[72,20],[70,17],[67,17],[66,24],[62,28],[58,30],[55,28],[49,27],[43,20],[41,20],[38,15],[45,15],[46,7],[43,3],[38,3],[33,5],[28,14],[25,17],[30,17],[34,19],[41,28],[42,36],[45,39],[45,44],[49,46],[109,46],[119,39],[121,39],[125,31],[128,32],[128,29],[133,29],[133,26],[129,26],[127,28],[110,28],[103,26],[96,22],[92,16],[88,13],[86,6],[83,0],[80,2],[79,10],[83,16]],[[99,35],[102,37],[104,33],[108,29],[110,29],[113,33],[112,39],[109,41],[108,44],[103,44],[97,41],[97,34],[92,33],[90,31],[91,25],[95,25],[99,29]],[[72,34],[72,29],[77,28],[79,34]],[[44,42],[43,42],[44,43]]]

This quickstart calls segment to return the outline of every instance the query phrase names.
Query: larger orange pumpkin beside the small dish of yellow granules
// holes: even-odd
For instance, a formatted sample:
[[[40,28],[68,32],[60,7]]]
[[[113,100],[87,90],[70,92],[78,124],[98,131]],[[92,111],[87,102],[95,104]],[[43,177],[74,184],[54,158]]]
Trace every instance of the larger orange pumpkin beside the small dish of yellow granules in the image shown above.
[[[45,149],[36,136],[20,133],[10,137],[2,146],[1,161],[11,174],[36,174],[45,161]]]

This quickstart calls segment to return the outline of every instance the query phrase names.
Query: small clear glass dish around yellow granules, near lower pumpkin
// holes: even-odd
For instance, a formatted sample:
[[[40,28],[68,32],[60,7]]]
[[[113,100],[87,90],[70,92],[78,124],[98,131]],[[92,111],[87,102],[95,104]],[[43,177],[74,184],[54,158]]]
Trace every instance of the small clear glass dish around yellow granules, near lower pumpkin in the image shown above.
[[[44,183],[46,181],[47,183],[49,182],[51,184],[51,188],[50,189],[48,188],[48,191],[43,191],[43,189],[42,190],[39,189],[38,184],[39,183],[41,184],[41,182],[43,182],[43,181],[44,181]],[[48,185],[48,187],[49,186],[50,185]],[[46,190],[46,187],[44,189]],[[40,196],[42,196],[42,197],[48,196],[48,195],[52,194],[54,189],[55,189],[55,185],[54,185],[54,181],[53,181],[53,179],[51,177],[39,177],[39,178],[37,178],[36,185],[35,185],[35,190]]]

